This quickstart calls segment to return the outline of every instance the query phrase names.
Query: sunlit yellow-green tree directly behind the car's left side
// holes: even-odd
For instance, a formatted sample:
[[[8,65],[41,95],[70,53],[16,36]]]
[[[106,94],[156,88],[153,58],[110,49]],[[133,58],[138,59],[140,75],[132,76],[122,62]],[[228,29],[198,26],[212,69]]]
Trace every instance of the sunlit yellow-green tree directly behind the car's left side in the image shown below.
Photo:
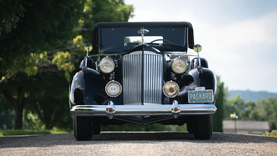
[[[94,11],[96,8],[98,11]],[[48,55],[50,54],[52,57],[48,57],[48,61],[44,63],[47,68],[41,67],[36,76],[38,77],[36,84],[43,90],[38,88],[41,90],[39,93],[31,94],[30,98],[33,101],[29,107],[32,113],[38,114],[46,129],[52,129],[53,126],[65,129],[70,127],[71,129],[72,115],[66,111],[69,108],[68,81],[70,72],[74,68],[78,68],[78,61],[86,54],[84,40],[91,42],[89,40],[92,38],[93,26],[97,22],[128,21],[128,18],[123,15],[128,14],[126,17],[131,17],[131,11],[126,10],[132,11],[133,9],[132,6],[125,5],[123,1],[86,1],[82,16],[78,20],[81,26],[74,29],[77,36],[73,42],[69,42],[67,47],[59,48],[58,52],[48,51]],[[98,18],[100,15],[103,17]],[[86,38],[82,34],[85,34]],[[39,77],[43,77],[43,80]]]

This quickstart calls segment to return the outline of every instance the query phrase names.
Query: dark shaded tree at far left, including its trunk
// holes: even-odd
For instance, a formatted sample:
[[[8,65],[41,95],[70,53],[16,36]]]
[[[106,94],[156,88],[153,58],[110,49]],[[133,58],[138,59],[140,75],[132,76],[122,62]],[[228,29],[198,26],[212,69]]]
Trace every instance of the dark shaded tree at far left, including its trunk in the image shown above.
[[[14,10],[19,6],[23,11],[12,11],[15,15],[12,19],[14,17],[16,22],[9,21],[8,11],[3,16],[10,23],[10,27],[6,27],[0,37],[0,85],[5,99],[15,110],[14,129],[21,129],[23,109],[28,103],[26,92],[31,87],[27,84],[31,84],[31,77],[37,73],[38,66],[44,65],[47,55],[45,51],[67,45],[75,36],[72,30],[79,24],[85,1],[23,0],[20,4],[17,2],[19,1],[14,1]],[[12,2],[1,1],[1,8],[12,8],[11,4]],[[12,77],[14,79],[10,79]],[[4,81],[10,82],[3,84]]]

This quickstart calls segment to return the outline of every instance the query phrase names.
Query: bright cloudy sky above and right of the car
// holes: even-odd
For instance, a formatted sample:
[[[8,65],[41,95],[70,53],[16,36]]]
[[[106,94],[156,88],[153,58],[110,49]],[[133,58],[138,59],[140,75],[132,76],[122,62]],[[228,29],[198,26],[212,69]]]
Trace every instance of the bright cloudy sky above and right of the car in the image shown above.
[[[277,1],[125,0],[129,22],[192,23],[194,43],[228,90],[277,93]],[[192,49],[188,51],[194,53]]]

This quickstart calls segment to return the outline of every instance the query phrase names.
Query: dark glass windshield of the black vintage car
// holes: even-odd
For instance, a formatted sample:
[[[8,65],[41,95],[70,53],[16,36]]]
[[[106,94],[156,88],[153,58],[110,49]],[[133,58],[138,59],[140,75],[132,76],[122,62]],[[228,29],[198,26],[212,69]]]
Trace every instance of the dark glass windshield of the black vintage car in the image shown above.
[[[186,45],[186,27],[144,27],[144,29],[148,30],[147,33],[144,33],[144,43],[165,39],[168,41],[159,40],[153,43]],[[141,27],[102,27],[100,29],[100,49],[130,42],[141,43],[139,30],[141,30]]]

